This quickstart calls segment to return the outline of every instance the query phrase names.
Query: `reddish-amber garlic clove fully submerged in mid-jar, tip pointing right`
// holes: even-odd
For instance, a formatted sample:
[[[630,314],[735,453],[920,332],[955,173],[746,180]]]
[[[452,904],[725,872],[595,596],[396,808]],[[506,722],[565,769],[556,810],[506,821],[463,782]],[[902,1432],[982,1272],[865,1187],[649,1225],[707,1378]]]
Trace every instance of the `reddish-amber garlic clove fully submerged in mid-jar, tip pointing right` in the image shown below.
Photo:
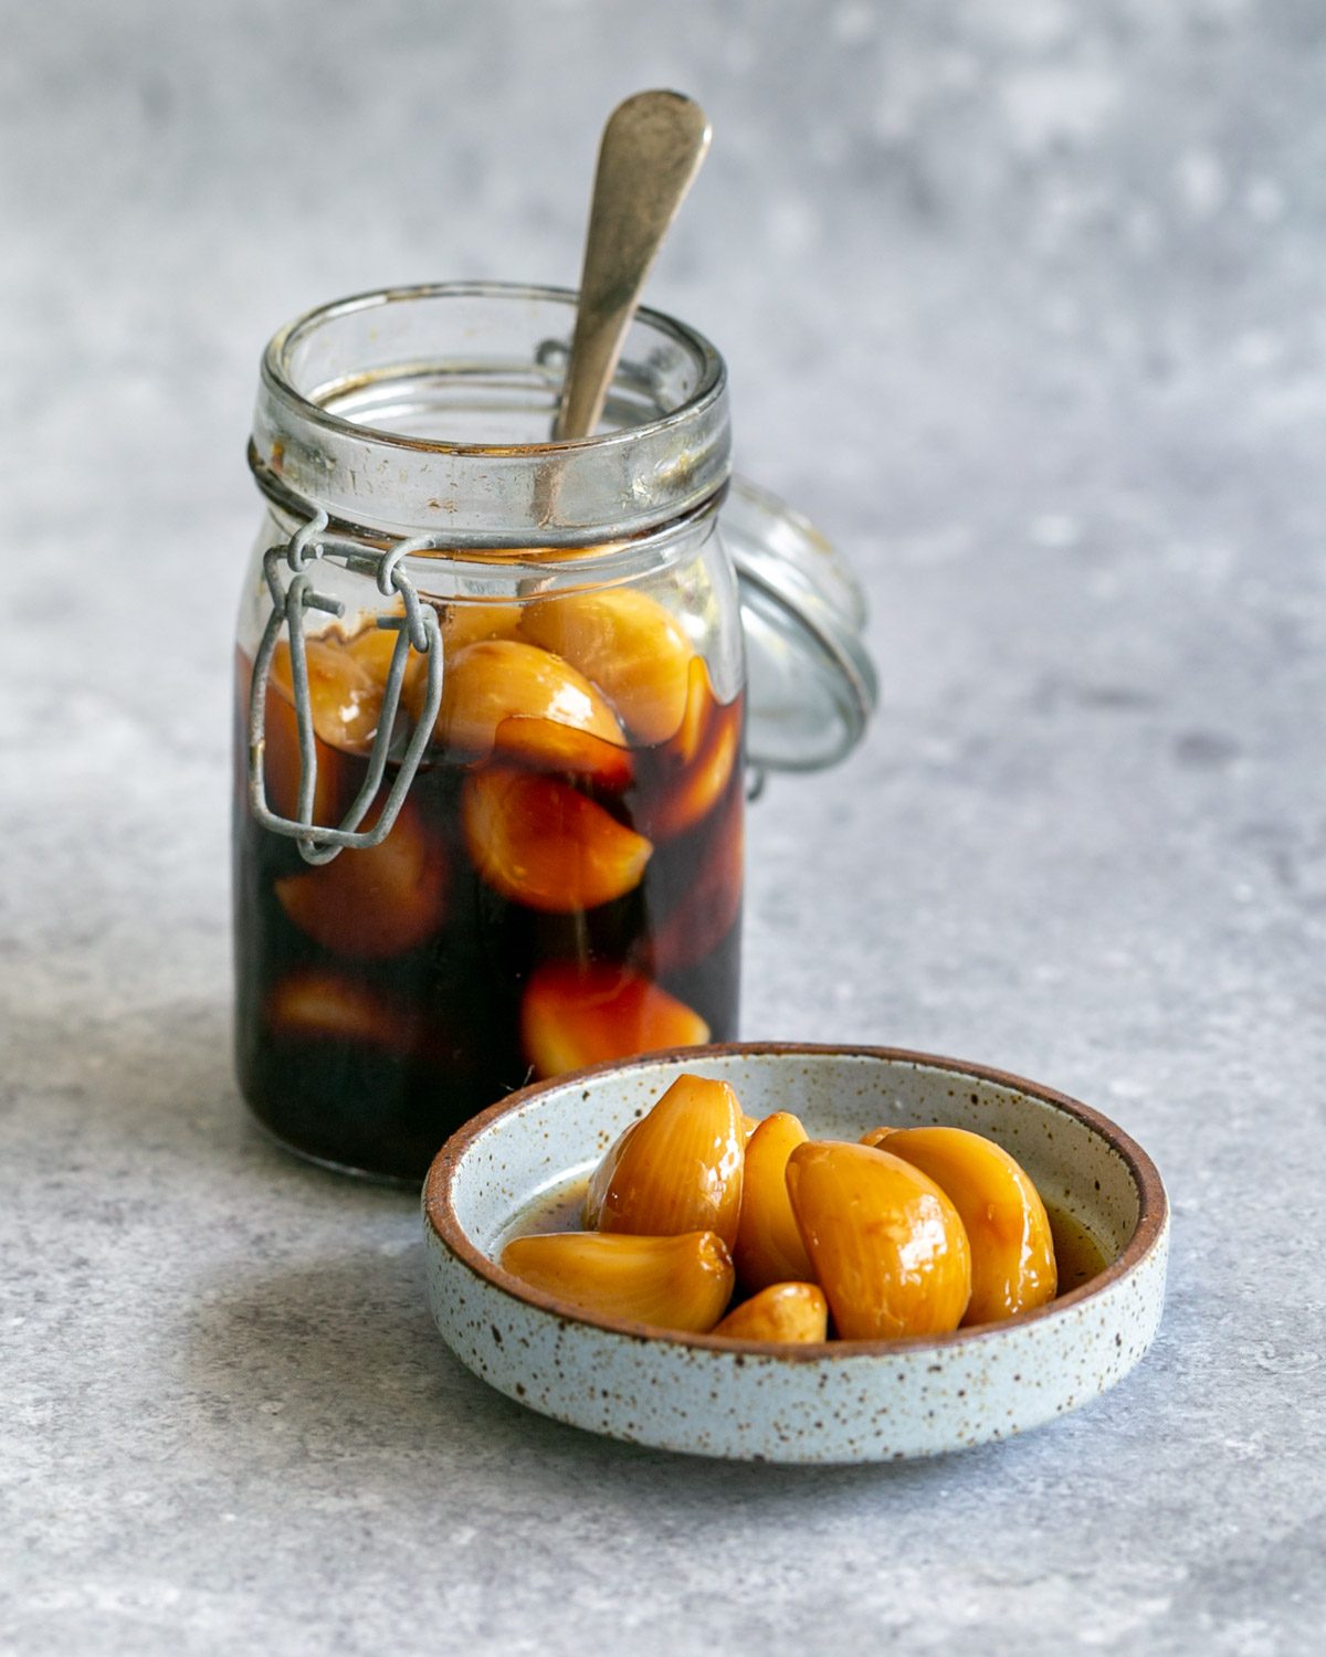
[[[512,903],[550,915],[633,891],[653,852],[567,784],[506,766],[466,777],[461,824],[481,878]]]

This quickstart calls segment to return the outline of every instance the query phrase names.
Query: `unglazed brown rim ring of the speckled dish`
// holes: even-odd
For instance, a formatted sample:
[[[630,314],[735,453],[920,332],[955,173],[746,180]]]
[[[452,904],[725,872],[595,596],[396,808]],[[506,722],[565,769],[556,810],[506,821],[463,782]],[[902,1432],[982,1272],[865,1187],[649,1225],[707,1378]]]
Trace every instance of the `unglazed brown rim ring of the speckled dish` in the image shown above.
[[[888,1064],[908,1064],[913,1069],[945,1070],[950,1075],[963,1075],[976,1082],[991,1082],[996,1087],[1008,1087],[1019,1094],[1026,1094],[1031,1099],[1039,1099],[1044,1104],[1054,1105],[1057,1110],[1062,1110],[1069,1117],[1076,1117],[1086,1127],[1099,1133],[1109,1147],[1124,1158],[1139,1193],[1137,1228],[1129,1238],[1122,1254],[1102,1273],[1097,1273],[1094,1278],[1087,1279],[1087,1283],[1076,1289],[1069,1289],[1067,1294],[1057,1296],[1033,1312],[1018,1312],[1014,1317],[1004,1317],[996,1324],[976,1324],[971,1329],[955,1329],[946,1336],[908,1336],[902,1341],[782,1342],[736,1341],[731,1336],[713,1334],[698,1336],[676,1329],[663,1329],[656,1324],[636,1324],[628,1322],[627,1319],[598,1317],[583,1306],[575,1306],[572,1301],[560,1301],[554,1294],[544,1294],[542,1289],[534,1289],[530,1284],[522,1283],[509,1271],[502,1271],[496,1261],[489,1259],[482,1249],[477,1249],[474,1243],[471,1243],[456,1218],[456,1208],[451,1201],[451,1183],[461,1158],[486,1128],[489,1128],[501,1117],[519,1110],[532,1099],[539,1099],[542,1094],[550,1094],[562,1087],[575,1087],[590,1077],[607,1075],[608,1072],[628,1072],[658,1064],[686,1064],[686,1060],[729,1056],[757,1057],[761,1054],[774,1057],[796,1057],[801,1054],[807,1057],[834,1056],[840,1059],[882,1059]],[[456,1133],[451,1135],[446,1145],[443,1145],[433,1158],[433,1165],[424,1178],[423,1208],[424,1220],[438,1234],[439,1241],[449,1249],[451,1254],[456,1256],[456,1259],[467,1266],[476,1278],[482,1278],[484,1283],[491,1284],[491,1287],[499,1289],[502,1294],[509,1294],[515,1301],[524,1301],[527,1306],[535,1306],[539,1311],[552,1312],[564,1322],[588,1324],[593,1329],[605,1329],[610,1334],[627,1336],[633,1341],[670,1341],[675,1345],[704,1347],[711,1352],[731,1352],[734,1355],[741,1354],[743,1357],[772,1357],[797,1364],[814,1362],[825,1357],[880,1357],[888,1352],[907,1352],[915,1347],[928,1349],[963,1345],[966,1342],[988,1341],[991,1336],[999,1336],[1009,1329],[1018,1329],[1026,1324],[1041,1322],[1046,1317],[1053,1317],[1056,1312],[1067,1311],[1072,1306],[1081,1306],[1084,1301],[1102,1294],[1112,1284],[1125,1278],[1152,1251],[1157,1239],[1164,1233],[1165,1221],[1169,1218],[1165,1186],[1160,1181],[1160,1173],[1155,1163],[1142,1150],[1142,1147],[1120,1127],[1111,1122],[1109,1117],[1101,1115],[1099,1110],[1092,1110],[1091,1105],[1084,1105],[1077,1099],[1069,1099],[1067,1094],[1056,1092],[1053,1087],[1043,1087],[1039,1082],[1029,1082],[1026,1077],[1013,1075],[1009,1070],[994,1070],[985,1064],[968,1064],[965,1059],[945,1059],[932,1052],[912,1052],[907,1047],[855,1047],[829,1042],[762,1041],[716,1042],[708,1047],[668,1047],[660,1052],[640,1054],[635,1059],[608,1059],[605,1064],[595,1064],[585,1070],[573,1070],[567,1075],[552,1077],[547,1082],[535,1082],[530,1087],[522,1087],[519,1092],[509,1094],[496,1105],[489,1105],[487,1110],[472,1117],[462,1128],[457,1128]]]

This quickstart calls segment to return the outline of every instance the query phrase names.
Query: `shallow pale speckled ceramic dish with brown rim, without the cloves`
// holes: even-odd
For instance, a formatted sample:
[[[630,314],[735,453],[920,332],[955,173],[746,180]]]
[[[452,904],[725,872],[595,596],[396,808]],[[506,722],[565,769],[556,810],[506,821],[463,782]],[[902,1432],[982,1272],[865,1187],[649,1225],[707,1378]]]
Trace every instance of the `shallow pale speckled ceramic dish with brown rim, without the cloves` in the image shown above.
[[[794,1110],[812,1138],[951,1123],[1004,1145],[1061,1228],[1061,1294],[933,1341],[781,1347],[592,1317],[497,1266],[511,1236],[575,1225],[603,1148],[681,1070],[723,1077],[749,1115]],[[1067,1241],[1099,1246],[1071,1286]],[[883,1047],[741,1044],[600,1065],[512,1094],[461,1128],[424,1185],[428,1292],[476,1375],[590,1432],[698,1455],[883,1461],[1004,1438],[1087,1403],[1150,1345],[1169,1208],[1114,1123],[1014,1075]],[[1069,1286],[1064,1289],[1066,1279]]]

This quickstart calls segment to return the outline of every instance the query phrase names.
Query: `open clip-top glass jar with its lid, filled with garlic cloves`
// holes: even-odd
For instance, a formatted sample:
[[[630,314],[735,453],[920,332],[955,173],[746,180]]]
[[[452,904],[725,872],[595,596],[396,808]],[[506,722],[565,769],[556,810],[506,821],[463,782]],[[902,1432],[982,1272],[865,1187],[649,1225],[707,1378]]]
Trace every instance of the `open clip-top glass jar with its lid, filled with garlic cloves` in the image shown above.
[[[573,308],[385,290],[264,356],[235,1051],[318,1162],[419,1178],[530,1077],[733,1039],[748,655],[757,764],[874,704],[850,577],[731,487],[706,340],[640,312],[600,431],[549,441]]]

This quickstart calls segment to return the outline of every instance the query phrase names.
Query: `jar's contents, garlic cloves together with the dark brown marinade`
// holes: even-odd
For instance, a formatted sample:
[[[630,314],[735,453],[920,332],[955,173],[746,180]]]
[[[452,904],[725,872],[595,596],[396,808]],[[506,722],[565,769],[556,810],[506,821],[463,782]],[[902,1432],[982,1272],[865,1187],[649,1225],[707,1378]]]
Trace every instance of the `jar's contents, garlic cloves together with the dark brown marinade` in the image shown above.
[[[582,603],[605,597],[666,623],[638,593]],[[252,664],[237,658],[240,1085],[297,1150],[399,1178],[534,1075],[726,1041],[738,1017],[741,699],[718,703],[686,651],[608,703],[565,658],[512,636],[514,610],[448,623],[444,704],[399,819],[380,848],[320,868],[249,810]],[[673,651],[678,636],[673,625]],[[365,777],[393,641],[308,643],[317,822],[338,822]],[[288,684],[278,650],[265,779],[282,815],[298,777]],[[418,708],[421,686],[411,658],[403,704]]]

